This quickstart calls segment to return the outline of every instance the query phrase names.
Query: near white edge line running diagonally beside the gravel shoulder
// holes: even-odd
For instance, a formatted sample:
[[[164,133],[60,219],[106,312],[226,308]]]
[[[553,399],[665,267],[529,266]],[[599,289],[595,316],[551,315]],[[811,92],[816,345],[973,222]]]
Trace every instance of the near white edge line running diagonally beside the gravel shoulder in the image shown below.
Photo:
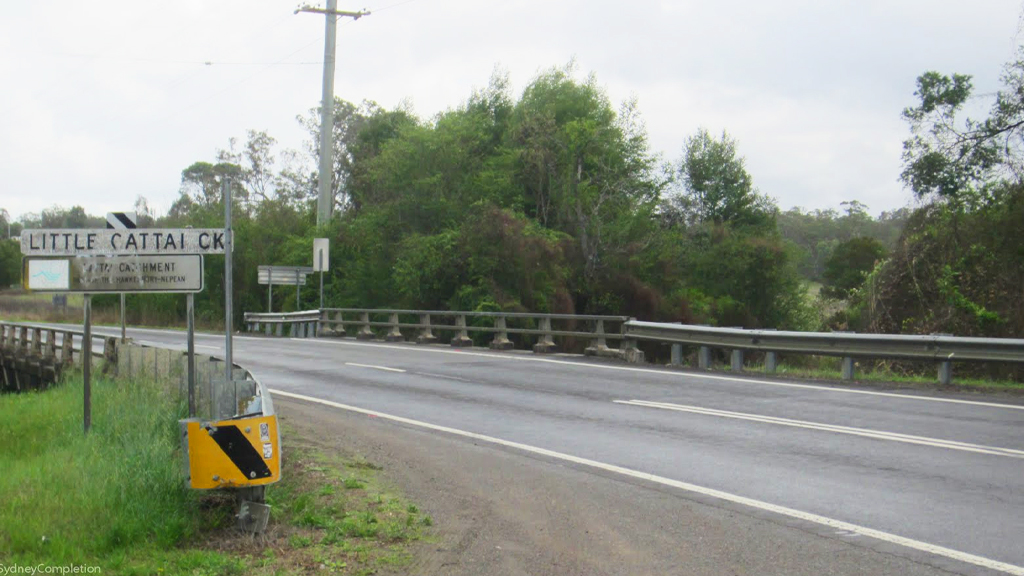
[[[973,564],[975,566],[980,566],[982,568],[987,568],[990,570],[997,570],[999,572],[1006,572],[1007,574],[1014,574],[1015,576],[1024,576],[1024,567],[1016,566],[1013,564],[1008,564],[1005,562],[999,562],[997,560],[992,560],[968,552],[963,552],[959,550],[954,550],[952,548],[946,548],[944,546],[939,546],[937,544],[930,544],[928,542],[922,542],[921,540],[914,540],[912,538],[906,538],[904,536],[898,536],[896,534],[890,534],[888,532],[883,532],[881,530],[874,530],[873,528],[866,528],[863,526],[858,526],[856,524],[850,524],[848,522],[843,522],[841,520],[835,520],[831,518],[818,516],[811,512],[805,512],[795,508],[790,508],[786,506],[780,506],[778,504],[770,504],[768,502],[763,502],[761,500],[755,500],[754,498],[748,498],[745,496],[738,496],[736,494],[730,494],[729,492],[723,492],[721,490],[715,490],[713,488],[705,488],[703,486],[697,486],[695,484],[690,484],[687,482],[681,482],[678,480],[672,480],[670,478],[665,478],[660,476],[655,476],[648,472],[643,472],[639,470],[634,470],[632,468],[626,468],[623,466],[616,466],[614,464],[606,464],[604,462],[599,462],[597,460],[591,460],[589,458],[581,458],[579,456],[572,456],[570,454],[565,454],[562,452],[555,452],[554,450],[548,450],[546,448],[539,448],[537,446],[530,446],[528,444],[520,444],[518,442],[512,442],[509,440],[502,440],[500,438],[495,438],[492,436],[484,436],[481,434],[461,430],[459,428],[452,428],[449,426],[441,426],[438,424],[431,424],[429,422],[423,422],[420,420],[414,420],[412,418],[404,418],[402,416],[394,416],[391,414],[385,414],[383,412],[377,412],[376,410],[368,410],[366,408],[358,408],[355,406],[348,406],[346,404],[339,404],[337,402],[331,402],[330,400],[322,400],[318,398],[313,398],[310,396],[304,396],[300,394],[293,394],[279,389],[270,389],[270,394],[283,396],[285,398],[294,398],[296,400],[303,400],[306,402],[313,402],[316,404],[323,404],[324,406],[330,406],[332,408],[339,408],[341,410],[347,410],[349,412],[356,412],[359,414],[367,414],[369,416],[376,416],[378,418],[384,418],[386,420],[392,420],[395,422],[401,422],[403,424],[409,424],[413,426],[419,426],[423,428],[428,428],[432,430],[442,431],[455,436],[461,436],[464,438],[471,438],[473,440],[478,440],[481,442],[487,442],[490,444],[497,444],[499,446],[505,446],[508,448],[515,448],[516,450],[522,450],[524,452],[529,452],[531,454],[540,454],[542,456],[547,456],[549,458],[556,458],[559,460],[564,460],[566,462],[572,462],[574,464],[580,464],[584,466],[590,466],[593,468],[598,468],[622,476],[628,476],[631,478],[637,478],[640,480],[646,480],[648,482],[653,482],[664,486],[669,486],[672,488],[677,488],[679,490],[684,490],[686,492],[692,492],[694,494],[701,494],[703,496],[710,496],[712,498],[717,498],[719,500],[725,500],[727,502],[732,502],[735,504],[740,504],[743,506],[750,506],[752,508],[757,508],[760,510],[765,510],[768,512],[773,512],[790,518],[795,518],[798,520],[811,522],[821,526],[825,526],[835,530],[845,530],[847,532],[852,532],[854,534],[859,534],[861,536],[869,536],[871,538],[882,540],[884,542],[889,542],[892,544],[897,544],[907,548],[912,548],[923,552],[928,552],[935,556],[940,556],[948,558],[951,560],[964,562],[967,564]]]

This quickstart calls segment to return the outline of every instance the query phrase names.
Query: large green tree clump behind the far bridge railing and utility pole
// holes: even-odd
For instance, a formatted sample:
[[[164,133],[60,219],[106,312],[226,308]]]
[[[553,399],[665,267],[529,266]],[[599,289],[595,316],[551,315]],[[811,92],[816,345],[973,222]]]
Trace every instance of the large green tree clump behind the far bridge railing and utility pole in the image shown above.
[[[230,178],[237,323],[268,305],[257,266],[308,265],[312,239],[328,237],[329,306],[807,324],[794,250],[736,141],[703,130],[689,138],[674,170],[683,189],[666,202],[675,175],[651,153],[637,102],[613,106],[595,76],[581,78],[571,65],[542,72],[518,97],[496,74],[430,121],[336,100],[338,213],[319,230],[309,162],[316,112],[300,119],[306,157],[275,153],[269,134],[250,130],[215,162],[187,166],[178,200],[154,222],[222,225]],[[300,290],[300,307],[318,303],[317,284]],[[223,257],[207,257],[201,322],[222,318],[223,286]],[[294,294],[274,289],[269,305],[294,310]],[[133,296],[129,311],[180,318],[183,301]]]

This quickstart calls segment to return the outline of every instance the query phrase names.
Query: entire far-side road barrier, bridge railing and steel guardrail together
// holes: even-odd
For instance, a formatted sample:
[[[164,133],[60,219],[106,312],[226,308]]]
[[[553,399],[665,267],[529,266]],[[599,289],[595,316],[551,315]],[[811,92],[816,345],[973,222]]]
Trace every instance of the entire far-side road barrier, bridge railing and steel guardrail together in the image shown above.
[[[403,322],[401,317],[417,317],[419,322]],[[261,327],[267,335],[283,334],[283,327],[290,327],[290,335],[313,337],[316,335],[344,335],[349,328],[356,328],[359,339],[377,338],[375,329],[386,329],[384,339],[404,341],[402,330],[415,330],[415,341],[433,343],[434,332],[455,332],[453,346],[471,346],[471,332],[493,333],[489,347],[510,349],[513,342],[509,334],[538,336],[536,353],[549,353],[558,348],[554,337],[567,336],[591,341],[585,354],[622,358],[642,363],[644,354],[637,348],[638,341],[669,342],[674,344],[672,364],[681,364],[682,345],[699,346],[697,365],[709,369],[711,351],[731,351],[730,367],[743,370],[743,353],[765,353],[765,371],[774,373],[778,367],[778,354],[830,356],[843,359],[842,377],[854,377],[854,359],[899,359],[938,363],[938,379],[948,384],[952,381],[953,362],[1014,362],[1024,363],[1024,339],[968,338],[944,334],[929,336],[895,334],[857,334],[853,332],[792,332],[780,330],[744,330],[741,328],[715,328],[683,324],[640,322],[624,316],[588,316],[570,314],[528,314],[502,312],[449,312],[417,310],[374,308],[324,308],[290,314],[246,313],[250,331]],[[454,319],[454,323],[437,323],[437,318]],[[469,319],[490,319],[493,325],[473,325]],[[514,323],[510,326],[510,322]],[[552,323],[565,323],[561,329]],[[591,326],[588,331],[578,329],[580,323]],[[519,324],[516,326],[515,324]],[[617,324],[618,331],[608,332],[607,324]],[[340,327],[340,330],[337,328]],[[610,348],[608,340],[622,340],[620,347]]]

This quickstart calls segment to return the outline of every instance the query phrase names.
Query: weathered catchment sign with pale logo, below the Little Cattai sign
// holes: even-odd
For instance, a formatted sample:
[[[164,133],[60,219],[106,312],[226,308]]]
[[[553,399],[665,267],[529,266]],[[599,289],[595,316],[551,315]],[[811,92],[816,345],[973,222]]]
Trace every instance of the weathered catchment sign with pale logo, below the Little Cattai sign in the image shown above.
[[[201,292],[203,256],[25,258],[25,288],[40,292]]]

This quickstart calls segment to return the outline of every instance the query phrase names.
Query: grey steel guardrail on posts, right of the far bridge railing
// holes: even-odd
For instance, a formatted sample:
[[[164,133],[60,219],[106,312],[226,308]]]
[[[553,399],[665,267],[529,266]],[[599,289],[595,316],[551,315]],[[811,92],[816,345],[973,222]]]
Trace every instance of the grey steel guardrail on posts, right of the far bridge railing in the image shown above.
[[[933,334],[928,336],[858,334],[853,332],[791,332],[743,330],[683,324],[638,322],[624,324],[623,333],[637,340],[672,342],[700,346],[697,363],[711,366],[711,348],[732,351],[731,367],[742,370],[743,352],[766,353],[765,369],[774,372],[778,353],[834,356],[843,359],[843,379],[854,376],[855,358],[927,360],[939,363],[939,381],[952,380],[952,363],[961,361],[1024,363],[1024,339],[970,338]],[[681,349],[673,346],[673,363]]]

